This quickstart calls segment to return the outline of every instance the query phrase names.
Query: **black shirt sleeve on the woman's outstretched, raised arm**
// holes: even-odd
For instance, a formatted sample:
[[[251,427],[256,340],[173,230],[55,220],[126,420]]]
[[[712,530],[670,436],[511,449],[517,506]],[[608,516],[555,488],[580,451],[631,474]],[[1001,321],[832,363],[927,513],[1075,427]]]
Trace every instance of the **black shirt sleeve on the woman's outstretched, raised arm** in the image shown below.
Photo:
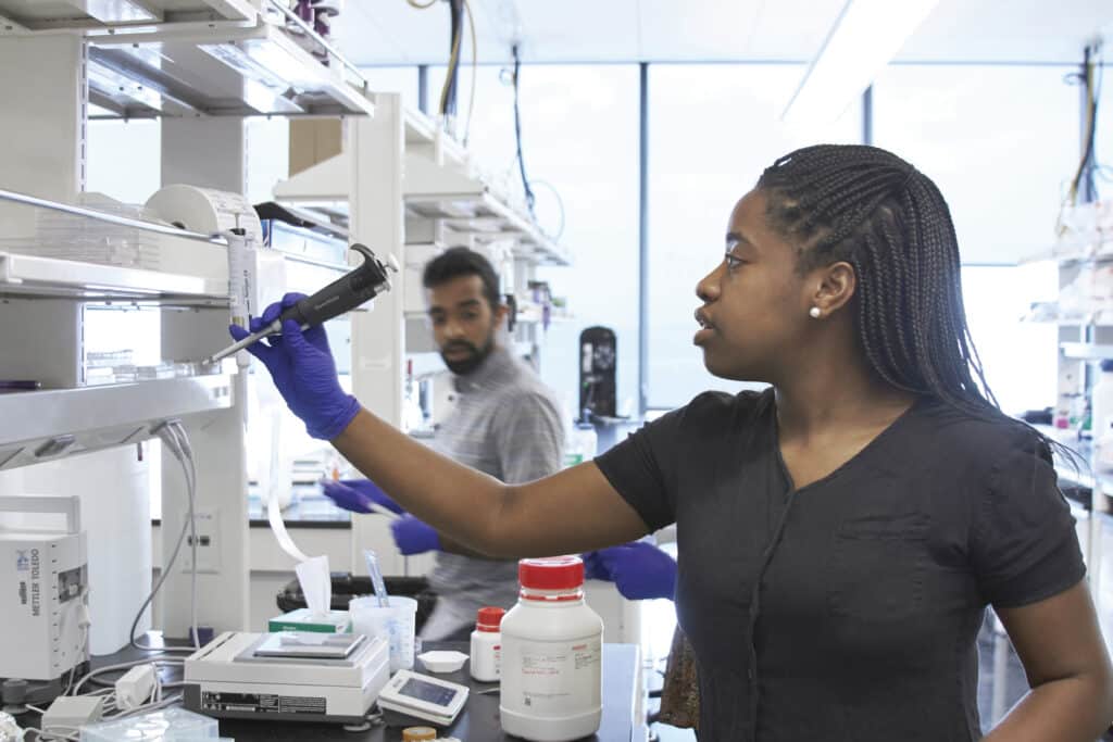
[[[677,520],[677,471],[688,407],[674,409],[631,433],[595,457],[611,486],[650,531]]]

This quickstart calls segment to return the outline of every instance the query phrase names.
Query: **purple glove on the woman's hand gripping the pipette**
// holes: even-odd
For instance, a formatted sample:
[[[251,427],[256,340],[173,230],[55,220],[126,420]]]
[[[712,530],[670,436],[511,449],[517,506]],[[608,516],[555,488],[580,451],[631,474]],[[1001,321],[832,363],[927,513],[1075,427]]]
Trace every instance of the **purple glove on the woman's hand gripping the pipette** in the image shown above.
[[[267,307],[262,317],[252,319],[250,332],[267,327],[304,298],[304,294],[287,294],[282,301]],[[237,325],[232,325],[228,332],[237,340],[250,334]],[[318,325],[303,333],[296,321],[287,320],[282,333],[248,346],[247,350],[270,372],[286,405],[302,418],[309,435],[332,441],[355,418],[359,403],[341,388],[325,328]]]

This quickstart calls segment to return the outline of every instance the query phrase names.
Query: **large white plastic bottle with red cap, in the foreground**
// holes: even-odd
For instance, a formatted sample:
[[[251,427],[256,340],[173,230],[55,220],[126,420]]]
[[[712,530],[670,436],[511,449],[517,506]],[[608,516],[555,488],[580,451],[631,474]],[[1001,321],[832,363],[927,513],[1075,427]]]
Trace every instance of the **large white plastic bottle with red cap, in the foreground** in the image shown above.
[[[502,620],[502,729],[534,742],[594,734],[603,715],[603,622],[583,601],[579,556],[522,560]]]

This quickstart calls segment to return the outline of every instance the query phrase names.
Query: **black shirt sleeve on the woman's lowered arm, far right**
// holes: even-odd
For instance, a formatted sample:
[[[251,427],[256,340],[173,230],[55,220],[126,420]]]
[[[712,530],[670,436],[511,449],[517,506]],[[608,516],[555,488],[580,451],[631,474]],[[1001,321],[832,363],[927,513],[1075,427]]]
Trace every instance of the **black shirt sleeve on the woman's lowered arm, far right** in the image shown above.
[[[1017,607],[1056,595],[1085,575],[1070,505],[1051,452],[1022,432],[998,457],[974,511],[971,554],[985,598]]]

